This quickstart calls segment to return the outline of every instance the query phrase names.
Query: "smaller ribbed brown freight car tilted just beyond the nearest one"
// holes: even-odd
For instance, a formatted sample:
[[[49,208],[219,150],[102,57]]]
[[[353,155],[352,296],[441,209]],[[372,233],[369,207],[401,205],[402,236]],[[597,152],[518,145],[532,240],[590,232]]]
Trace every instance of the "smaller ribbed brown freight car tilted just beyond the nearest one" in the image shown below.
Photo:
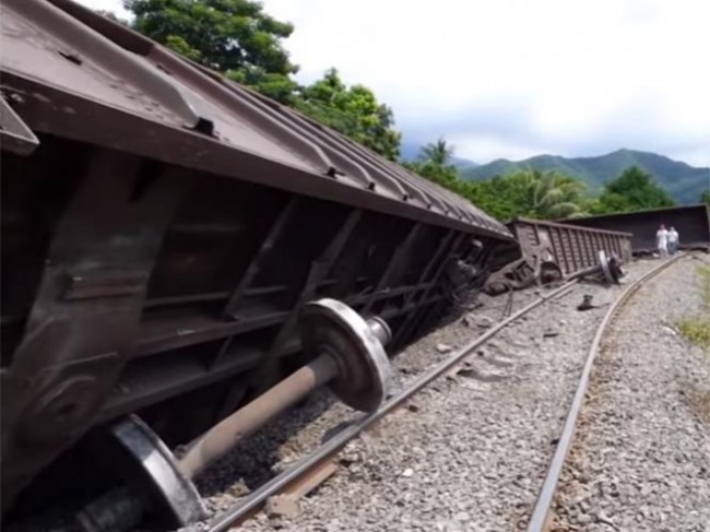
[[[600,250],[623,262],[631,258],[630,233],[528,218],[517,218],[509,226],[523,256],[540,255],[541,260],[555,262],[565,275],[596,265]]]

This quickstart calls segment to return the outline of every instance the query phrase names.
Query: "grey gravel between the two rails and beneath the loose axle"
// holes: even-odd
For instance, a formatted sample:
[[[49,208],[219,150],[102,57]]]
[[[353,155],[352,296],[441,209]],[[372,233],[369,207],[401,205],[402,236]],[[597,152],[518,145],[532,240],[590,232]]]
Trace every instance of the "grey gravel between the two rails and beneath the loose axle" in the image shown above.
[[[627,282],[656,264],[630,264]],[[339,471],[301,500],[298,517],[262,512],[240,530],[524,529],[584,354],[605,304],[622,291],[581,284],[517,320],[407,407],[348,444]],[[535,292],[517,293],[514,307],[536,298]],[[601,308],[576,310],[584,294]],[[483,297],[483,307],[466,320],[452,321],[398,355],[400,386],[498,321],[505,299]],[[208,472],[200,489],[210,509],[226,509],[358,417],[327,392],[316,393]]]

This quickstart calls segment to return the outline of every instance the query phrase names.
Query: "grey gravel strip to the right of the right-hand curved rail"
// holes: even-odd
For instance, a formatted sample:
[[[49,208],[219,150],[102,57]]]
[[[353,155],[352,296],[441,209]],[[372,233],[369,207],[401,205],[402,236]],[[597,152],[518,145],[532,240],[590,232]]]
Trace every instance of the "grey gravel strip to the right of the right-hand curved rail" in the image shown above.
[[[675,328],[707,312],[684,260],[603,344],[556,500],[558,531],[710,531],[710,358]]]

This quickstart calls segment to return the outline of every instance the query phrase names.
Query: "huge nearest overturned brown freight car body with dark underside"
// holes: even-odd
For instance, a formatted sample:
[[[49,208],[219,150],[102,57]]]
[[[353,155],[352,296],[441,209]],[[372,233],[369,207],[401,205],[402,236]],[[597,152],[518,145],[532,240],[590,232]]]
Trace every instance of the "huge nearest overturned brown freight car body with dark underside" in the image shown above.
[[[485,276],[512,240],[69,0],[1,10],[5,516],[113,482],[90,429],[139,413],[187,442],[306,362],[306,303],[377,315],[401,345],[446,304],[448,265]]]

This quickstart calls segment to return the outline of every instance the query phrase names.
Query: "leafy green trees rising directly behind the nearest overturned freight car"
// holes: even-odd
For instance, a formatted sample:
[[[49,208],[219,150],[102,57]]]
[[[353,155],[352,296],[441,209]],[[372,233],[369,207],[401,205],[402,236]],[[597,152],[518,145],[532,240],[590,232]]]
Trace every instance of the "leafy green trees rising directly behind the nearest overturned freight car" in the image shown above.
[[[392,109],[363,85],[347,87],[335,69],[299,87],[282,39],[294,26],[253,0],[125,0],[133,28],[261,94],[291,105],[392,161],[402,135]]]

